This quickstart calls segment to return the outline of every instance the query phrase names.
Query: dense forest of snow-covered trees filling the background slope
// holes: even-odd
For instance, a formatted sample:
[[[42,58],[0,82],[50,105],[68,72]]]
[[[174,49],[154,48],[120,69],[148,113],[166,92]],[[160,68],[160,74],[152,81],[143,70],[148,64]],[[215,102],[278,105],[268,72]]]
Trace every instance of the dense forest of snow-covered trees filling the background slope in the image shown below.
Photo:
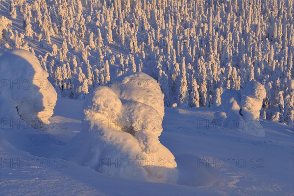
[[[260,117],[294,126],[294,0],[1,0],[0,41],[35,54],[59,97],[144,72],[165,106],[211,107],[255,80]]]

